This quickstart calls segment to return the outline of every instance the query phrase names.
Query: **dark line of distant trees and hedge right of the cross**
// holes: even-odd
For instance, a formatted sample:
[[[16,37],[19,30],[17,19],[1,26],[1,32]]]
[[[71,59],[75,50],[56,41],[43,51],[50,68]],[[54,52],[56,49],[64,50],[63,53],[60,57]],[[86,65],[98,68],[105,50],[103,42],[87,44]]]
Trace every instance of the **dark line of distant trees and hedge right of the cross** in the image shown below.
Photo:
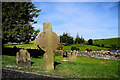
[[[73,37],[70,36],[70,34],[63,32],[63,35],[60,35],[60,43],[64,43],[65,46],[72,45],[72,44],[87,44],[87,45],[93,45],[93,46],[98,46],[98,47],[110,48],[111,50],[116,50],[119,48],[116,44],[112,44],[109,47],[106,47],[104,44],[101,44],[101,45],[94,44],[92,39],[85,41],[83,36],[79,37],[78,33],[77,33],[76,38],[74,40]],[[76,47],[72,47],[72,48],[75,49]]]

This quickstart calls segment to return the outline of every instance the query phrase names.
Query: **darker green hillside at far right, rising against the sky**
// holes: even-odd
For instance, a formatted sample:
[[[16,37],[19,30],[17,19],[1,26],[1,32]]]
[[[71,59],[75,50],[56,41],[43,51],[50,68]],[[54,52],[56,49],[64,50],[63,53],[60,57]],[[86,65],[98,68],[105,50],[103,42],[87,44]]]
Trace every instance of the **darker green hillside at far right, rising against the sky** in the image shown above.
[[[111,46],[112,44],[116,44],[118,47],[120,47],[120,38],[110,38],[110,39],[101,39],[94,41],[94,44],[102,45],[104,44],[106,46]]]

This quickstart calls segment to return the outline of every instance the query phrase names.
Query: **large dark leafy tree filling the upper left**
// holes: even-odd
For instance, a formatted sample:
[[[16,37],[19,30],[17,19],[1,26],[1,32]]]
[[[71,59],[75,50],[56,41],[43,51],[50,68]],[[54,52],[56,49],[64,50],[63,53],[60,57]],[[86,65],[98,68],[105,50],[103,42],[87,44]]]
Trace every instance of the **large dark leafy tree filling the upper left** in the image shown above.
[[[7,42],[24,42],[35,40],[40,30],[34,30],[33,18],[38,17],[37,10],[31,2],[2,3],[2,40]]]

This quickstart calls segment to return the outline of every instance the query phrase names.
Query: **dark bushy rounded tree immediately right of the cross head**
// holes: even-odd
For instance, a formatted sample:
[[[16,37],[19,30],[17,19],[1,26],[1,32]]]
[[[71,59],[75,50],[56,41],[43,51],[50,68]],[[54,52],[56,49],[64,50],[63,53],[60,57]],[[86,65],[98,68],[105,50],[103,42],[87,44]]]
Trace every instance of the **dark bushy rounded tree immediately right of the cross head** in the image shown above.
[[[64,32],[62,36],[60,35],[60,42],[65,43],[65,45],[73,44],[73,37]]]

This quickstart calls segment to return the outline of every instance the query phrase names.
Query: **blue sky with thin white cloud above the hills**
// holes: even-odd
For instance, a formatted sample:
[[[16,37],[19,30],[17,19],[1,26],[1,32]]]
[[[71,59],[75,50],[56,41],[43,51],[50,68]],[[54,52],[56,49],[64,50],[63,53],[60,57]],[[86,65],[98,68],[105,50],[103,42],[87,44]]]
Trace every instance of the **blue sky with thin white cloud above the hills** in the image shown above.
[[[72,37],[88,39],[118,37],[118,2],[33,2],[41,9],[35,18],[35,30],[43,31],[43,23],[52,23],[58,36],[67,32]]]

